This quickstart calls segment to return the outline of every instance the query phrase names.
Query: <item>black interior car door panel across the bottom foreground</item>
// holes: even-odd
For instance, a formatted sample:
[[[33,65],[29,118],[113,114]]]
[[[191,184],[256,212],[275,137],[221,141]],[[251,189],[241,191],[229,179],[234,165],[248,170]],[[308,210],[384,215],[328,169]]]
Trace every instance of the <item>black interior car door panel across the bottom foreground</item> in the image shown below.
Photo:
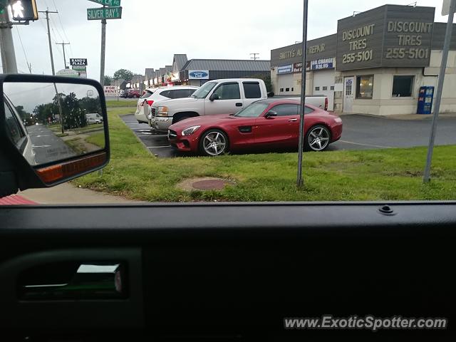
[[[103,337],[130,328],[158,338],[283,341],[328,336],[284,331],[285,317],[372,314],[452,321],[456,203],[390,202],[388,214],[380,211],[383,204],[0,208],[0,327],[26,329],[31,336],[57,327],[90,335],[97,326],[109,330]],[[18,301],[21,271],[68,260],[128,261],[136,274],[129,278],[134,284],[128,299]],[[337,333],[362,341],[377,336]],[[454,328],[378,333],[439,341]]]

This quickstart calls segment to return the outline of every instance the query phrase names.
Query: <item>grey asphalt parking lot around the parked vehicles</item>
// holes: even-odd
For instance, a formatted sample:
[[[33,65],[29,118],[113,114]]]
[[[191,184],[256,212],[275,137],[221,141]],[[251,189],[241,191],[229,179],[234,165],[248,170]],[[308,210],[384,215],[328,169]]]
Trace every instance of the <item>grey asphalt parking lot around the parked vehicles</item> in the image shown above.
[[[334,150],[373,150],[378,148],[426,146],[430,134],[430,115],[425,120],[397,120],[369,115],[343,115],[341,140],[328,147]],[[134,115],[122,119],[157,157],[180,155],[170,147],[166,135],[153,133],[149,125],[138,123]],[[456,144],[456,118],[440,118],[436,145]]]

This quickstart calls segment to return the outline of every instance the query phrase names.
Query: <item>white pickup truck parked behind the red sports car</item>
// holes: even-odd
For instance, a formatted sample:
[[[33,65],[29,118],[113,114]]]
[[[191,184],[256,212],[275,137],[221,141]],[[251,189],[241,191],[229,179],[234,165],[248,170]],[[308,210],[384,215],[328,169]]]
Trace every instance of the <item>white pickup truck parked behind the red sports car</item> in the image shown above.
[[[167,132],[170,125],[202,115],[234,114],[252,102],[268,97],[266,85],[257,78],[234,78],[204,83],[190,98],[160,101],[150,108],[150,127]],[[327,98],[306,98],[309,104],[326,109]]]

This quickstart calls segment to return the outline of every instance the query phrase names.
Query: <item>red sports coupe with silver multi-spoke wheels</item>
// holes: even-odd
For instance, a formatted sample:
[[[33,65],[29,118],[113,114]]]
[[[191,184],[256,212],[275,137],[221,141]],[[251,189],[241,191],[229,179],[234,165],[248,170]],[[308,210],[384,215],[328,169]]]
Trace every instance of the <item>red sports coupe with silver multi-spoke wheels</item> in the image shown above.
[[[304,126],[306,150],[323,151],[341,138],[341,118],[313,105],[306,105]],[[189,118],[171,125],[168,139],[182,152],[212,156],[254,148],[298,147],[299,102],[270,98],[234,115]]]

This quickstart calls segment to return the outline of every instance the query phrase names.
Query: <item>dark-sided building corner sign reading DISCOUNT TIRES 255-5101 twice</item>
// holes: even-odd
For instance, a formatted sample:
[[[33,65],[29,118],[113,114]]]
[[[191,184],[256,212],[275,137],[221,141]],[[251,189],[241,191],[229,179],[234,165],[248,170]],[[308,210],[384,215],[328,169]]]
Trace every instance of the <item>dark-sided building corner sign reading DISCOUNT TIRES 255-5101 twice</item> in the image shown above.
[[[435,9],[385,5],[338,21],[338,71],[429,66]]]

